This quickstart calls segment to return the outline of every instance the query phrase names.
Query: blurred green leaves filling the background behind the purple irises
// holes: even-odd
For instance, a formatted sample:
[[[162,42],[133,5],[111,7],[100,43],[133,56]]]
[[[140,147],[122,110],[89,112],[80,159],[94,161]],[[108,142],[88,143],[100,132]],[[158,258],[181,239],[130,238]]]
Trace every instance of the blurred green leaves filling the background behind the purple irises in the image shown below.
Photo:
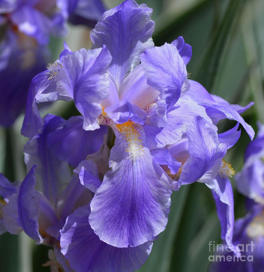
[[[108,0],[111,8],[121,1]],[[157,46],[171,42],[179,35],[192,45],[193,57],[187,66],[190,78],[230,103],[255,106],[243,117],[256,129],[256,121],[264,123],[264,1],[263,0],[145,0],[153,8]],[[90,48],[89,29],[69,26],[65,38],[72,50]],[[54,60],[63,47],[63,39],[53,39],[50,48]],[[42,111],[69,118],[77,115],[74,105],[56,102]],[[23,116],[10,129],[0,128],[0,172],[10,180],[23,180],[23,144],[20,135]],[[219,131],[235,125],[221,121]],[[237,145],[228,151],[226,160],[236,171],[243,165],[249,137],[242,129]],[[233,180],[232,180],[232,184]],[[244,198],[234,191],[235,217],[245,214]],[[208,268],[208,243],[220,243],[220,224],[211,191],[200,183],[182,186],[172,194],[166,230],[154,241],[149,259],[140,272],[203,272]],[[42,267],[48,260],[48,248],[37,246],[24,233],[5,233],[0,237],[0,271],[50,271]]]

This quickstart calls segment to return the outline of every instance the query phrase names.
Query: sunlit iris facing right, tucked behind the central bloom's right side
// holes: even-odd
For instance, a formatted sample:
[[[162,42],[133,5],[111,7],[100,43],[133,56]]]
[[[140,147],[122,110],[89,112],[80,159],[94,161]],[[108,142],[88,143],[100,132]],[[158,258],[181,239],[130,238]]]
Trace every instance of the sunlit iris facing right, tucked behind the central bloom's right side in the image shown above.
[[[180,103],[178,102],[178,105]],[[227,148],[233,144],[234,138],[236,137],[238,140],[240,131],[237,131],[238,125],[236,125],[235,128],[224,133],[229,137],[225,137],[225,141],[221,143],[221,134],[219,134],[220,136],[217,135],[217,128],[208,122],[208,117],[195,116],[195,112],[197,113],[199,109],[204,111],[204,113],[205,109],[199,108],[194,103],[191,105],[195,106],[195,108],[192,108],[194,110],[193,115],[190,115],[190,113],[185,115],[188,103],[185,106],[177,107],[174,110],[173,122],[177,120],[178,128],[176,125],[172,125],[172,123],[168,127],[170,131],[168,140],[170,141],[169,138],[177,137],[181,129],[180,133],[182,133],[182,136],[180,140],[175,144],[166,145],[163,149],[156,148],[150,152],[170,176],[172,190],[177,190],[180,185],[195,181],[205,183],[212,190],[221,223],[221,237],[228,244],[232,244],[234,211],[233,191],[229,177],[234,175],[234,170],[223,158]],[[176,113],[177,110],[180,113],[179,115]],[[181,110],[183,112],[180,112]],[[171,118],[171,115],[168,116]],[[180,127],[180,123],[184,119],[185,122],[188,119],[191,121]],[[163,129],[163,132],[161,132],[164,133],[163,137],[169,134],[169,131],[164,131]],[[231,135],[233,135],[231,137],[232,141],[228,142]],[[161,141],[157,143],[160,144]],[[166,154],[165,157],[164,154]],[[178,170],[173,165],[175,162],[179,162]]]

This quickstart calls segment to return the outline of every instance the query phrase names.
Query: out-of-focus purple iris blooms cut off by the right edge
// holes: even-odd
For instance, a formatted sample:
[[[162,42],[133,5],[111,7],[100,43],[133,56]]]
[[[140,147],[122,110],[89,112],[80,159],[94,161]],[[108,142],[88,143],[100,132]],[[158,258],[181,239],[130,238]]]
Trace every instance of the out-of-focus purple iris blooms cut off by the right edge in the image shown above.
[[[233,244],[241,251],[242,259],[231,262],[216,262],[210,271],[263,271],[264,246],[264,127],[259,124],[259,132],[246,148],[245,164],[235,176],[237,189],[246,196],[247,215],[237,219],[234,225]],[[250,246],[246,246],[250,244]],[[252,246],[251,246],[252,245]],[[227,257],[230,252],[217,253]],[[231,254],[233,259],[233,255]]]

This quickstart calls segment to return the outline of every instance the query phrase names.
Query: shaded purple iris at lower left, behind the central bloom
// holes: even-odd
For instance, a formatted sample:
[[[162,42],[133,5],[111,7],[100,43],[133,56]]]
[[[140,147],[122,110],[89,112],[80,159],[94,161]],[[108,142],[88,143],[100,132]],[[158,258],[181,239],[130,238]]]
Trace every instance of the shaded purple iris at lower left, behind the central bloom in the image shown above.
[[[8,199],[8,203],[3,209],[5,227],[7,230],[11,233],[15,233],[12,231],[13,228],[17,228],[17,230],[23,228],[30,237],[37,241],[41,241],[43,238],[36,238],[37,235],[41,236],[38,233],[39,230],[41,233],[52,235],[55,238],[59,237],[59,230],[62,228],[66,217],[76,208],[76,203],[87,204],[92,197],[92,193],[87,192],[87,190],[79,184],[78,175],[71,175],[67,157],[66,160],[61,160],[59,153],[63,150],[64,155],[68,154],[69,157],[76,144],[80,142],[86,142],[86,144],[88,142],[91,143],[92,148],[90,148],[90,150],[76,150],[80,158],[79,160],[81,160],[89,153],[98,150],[103,142],[103,135],[105,133],[105,129],[100,130],[101,135],[97,134],[96,138],[91,138],[89,131],[84,131],[85,133],[83,133],[78,123],[82,123],[82,120],[78,117],[72,117],[68,121],[65,121],[61,117],[47,115],[43,118],[43,122],[44,125],[39,133],[31,138],[24,146],[25,163],[29,171],[27,177],[20,186],[14,186],[14,183],[10,183],[2,176],[0,193],[4,199]],[[57,150],[54,150],[52,145],[53,140],[64,130],[68,131],[68,135],[65,138],[67,147],[57,145]],[[73,165],[74,163],[75,161],[73,160]],[[37,165],[35,169],[34,165]],[[13,187],[16,189],[11,191]],[[24,189],[22,190],[21,188]],[[8,192],[8,194],[6,192]],[[36,197],[28,198],[27,203],[26,199],[23,200],[24,197],[27,196],[24,196],[24,193],[31,193],[32,196],[36,195]],[[36,224],[38,225],[36,225],[35,229],[24,228],[23,225],[21,225],[21,220],[24,220],[23,217],[26,215],[26,211],[22,208],[21,213],[18,211],[19,220],[18,218],[12,217],[11,213],[8,214],[8,210],[14,209],[17,205],[18,208],[20,205],[32,206],[31,201],[35,203],[36,212],[39,212],[36,217]],[[27,209],[27,207],[25,207],[25,209]],[[12,221],[14,222],[12,223]],[[15,224],[15,222],[18,224]],[[62,224],[61,227],[60,224]]]

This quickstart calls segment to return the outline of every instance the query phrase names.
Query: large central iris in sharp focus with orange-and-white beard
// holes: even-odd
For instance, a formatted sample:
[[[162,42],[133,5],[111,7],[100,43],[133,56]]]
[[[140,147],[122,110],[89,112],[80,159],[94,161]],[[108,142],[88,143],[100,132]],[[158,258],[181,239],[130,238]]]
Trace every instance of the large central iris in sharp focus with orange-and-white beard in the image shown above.
[[[60,60],[33,79],[22,127],[22,133],[31,136],[41,125],[36,101],[70,99],[84,116],[86,130],[97,129],[99,124],[109,125],[114,130],[116,141],[110,154],[111,170],[105,174],[91,202],[89,222],[101,240],[120,248],[136,247],[153,240],[166,226],[171,194],[169,177],[147,148],[142,126],[147,112],[143,108],[153,99],[159,100],[152,107],[155,109],[150,119],[164,121],[166,108],[177,101],[187,77],[185,63],[175,45],[153,47],[151,12],[146,5],[126,1],[107,11],[91,32],[93,48],[98,48],[71,52],[65,45]],[[114,33],[113,24],[117,24],[119,18],[123,19],[118,32]],[[163,55],[168,63],[171,53],[175,57],[164,72],[173,85],[166,90],[154,90],[152,83],[148,85],[140,64],[140,54],[151,47],[160,53],[160,63]],[[148,63],[150,60],[145,58]],[[156,64],[150,66],[155,68]],[[174,75],[173,71],[178,73]],[[151,73],[146,71],[150,78]],[[162,89],[163,83],[159,84],[157,88]],[[116,192],[120,192],[118,198]],[[126,199],[126,205],[122,199]],[[147,201],[149,205],[144,207]],[[116,224],[117,219],[119,224]],[[112,233],[109,228],[113,229]]]

